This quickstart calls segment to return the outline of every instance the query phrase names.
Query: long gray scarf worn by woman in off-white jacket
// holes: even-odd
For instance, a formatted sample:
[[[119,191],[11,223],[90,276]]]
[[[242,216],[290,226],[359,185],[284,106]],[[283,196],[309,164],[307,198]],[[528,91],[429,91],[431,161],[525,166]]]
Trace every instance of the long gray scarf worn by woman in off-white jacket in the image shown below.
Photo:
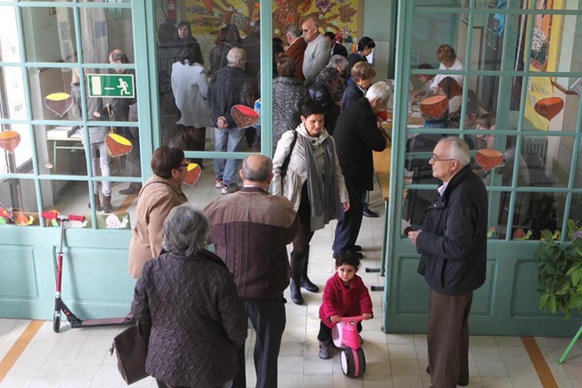
[[[329,137],[321,143],[320,147],[324,147],[324,170],[320,174],[310,141],[305,136],[298,136],[297,140],[301,141],[306,154],[307,195],[311,205],[311,231],[314,232],[340,215],[338,184],[335,180],[335,149]]]

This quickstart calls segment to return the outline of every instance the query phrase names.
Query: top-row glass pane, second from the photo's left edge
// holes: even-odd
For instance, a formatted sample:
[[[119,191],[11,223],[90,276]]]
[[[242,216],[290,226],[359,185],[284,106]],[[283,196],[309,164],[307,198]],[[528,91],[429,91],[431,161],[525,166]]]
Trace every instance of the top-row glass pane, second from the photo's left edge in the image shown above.
[[[75,62],[73,8],[22,7],[26,60]]]

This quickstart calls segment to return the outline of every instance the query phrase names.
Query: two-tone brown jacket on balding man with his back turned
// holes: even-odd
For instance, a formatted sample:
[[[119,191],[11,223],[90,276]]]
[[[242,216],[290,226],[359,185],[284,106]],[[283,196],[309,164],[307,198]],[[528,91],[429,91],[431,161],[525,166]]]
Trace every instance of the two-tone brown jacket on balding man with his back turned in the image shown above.
[[[232,272],[243,298],[283,296],[291,271],[286,245],[299,231],[299,218],[287,198],[260,187],[244,187],[204,209],[216,254]]]

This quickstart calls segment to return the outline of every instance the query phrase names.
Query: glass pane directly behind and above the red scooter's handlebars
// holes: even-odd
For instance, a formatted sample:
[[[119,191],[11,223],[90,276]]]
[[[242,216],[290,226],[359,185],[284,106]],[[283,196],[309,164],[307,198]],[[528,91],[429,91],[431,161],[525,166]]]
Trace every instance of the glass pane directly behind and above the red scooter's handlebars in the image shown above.
[[[89,188],[86,181],[41,180],[42,206],[44,211],[56,211],[66,215],[83,215],[85,222],[73,221],[71,227],[91,227]],[[47,225],[58,226],[46,221]]]

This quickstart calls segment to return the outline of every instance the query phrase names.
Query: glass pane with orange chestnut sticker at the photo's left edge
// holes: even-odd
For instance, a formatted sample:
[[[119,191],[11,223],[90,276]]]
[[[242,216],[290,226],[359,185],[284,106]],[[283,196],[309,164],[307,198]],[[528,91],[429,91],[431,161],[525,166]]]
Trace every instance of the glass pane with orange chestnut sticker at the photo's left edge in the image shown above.
[[[33,173],[33,147],[27,124],[0,124],[0,173]]]

